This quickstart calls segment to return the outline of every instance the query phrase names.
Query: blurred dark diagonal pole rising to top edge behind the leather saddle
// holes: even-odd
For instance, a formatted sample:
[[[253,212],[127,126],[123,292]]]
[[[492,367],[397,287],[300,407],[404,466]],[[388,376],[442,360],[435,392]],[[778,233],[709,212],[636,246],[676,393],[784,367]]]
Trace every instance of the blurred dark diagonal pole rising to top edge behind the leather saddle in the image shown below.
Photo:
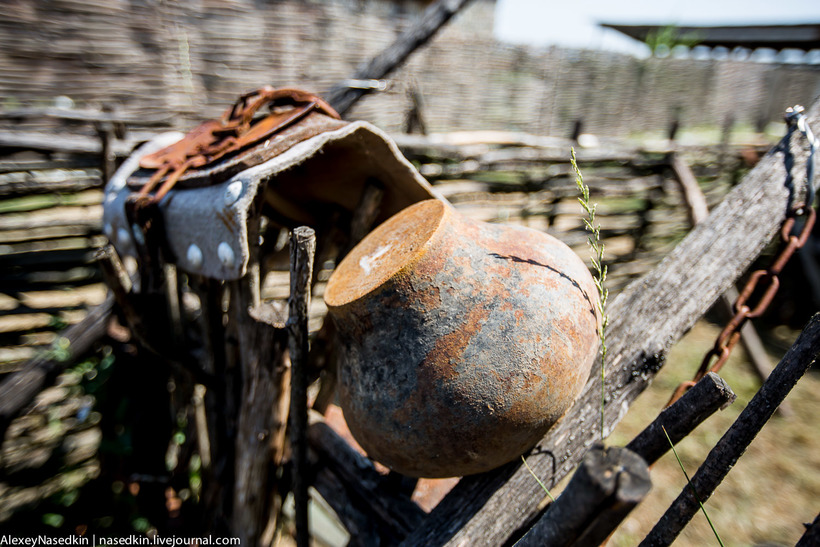
[[[405,30],[381,53],[367,64],[360,66],[352,80],[381,79],[398,68],[407,57],[419,47],[426,44],[443,27],[450,18],[471,0],[437,0],[431,4],[421,18]],[[337,84],[325,95],[325,99],[343,115],[358,101],[367,90],[354,89],[344,82]]]

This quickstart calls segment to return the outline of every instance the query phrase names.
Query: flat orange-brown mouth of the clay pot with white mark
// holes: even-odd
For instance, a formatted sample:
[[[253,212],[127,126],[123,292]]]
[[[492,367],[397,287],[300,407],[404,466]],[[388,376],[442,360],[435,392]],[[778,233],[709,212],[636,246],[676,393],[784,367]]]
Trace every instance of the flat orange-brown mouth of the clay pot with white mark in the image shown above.
[[[370,232],[336,267],[325,303],[338,308],[382,286],[424,254],[448,206],[428,199],[399,211]]]

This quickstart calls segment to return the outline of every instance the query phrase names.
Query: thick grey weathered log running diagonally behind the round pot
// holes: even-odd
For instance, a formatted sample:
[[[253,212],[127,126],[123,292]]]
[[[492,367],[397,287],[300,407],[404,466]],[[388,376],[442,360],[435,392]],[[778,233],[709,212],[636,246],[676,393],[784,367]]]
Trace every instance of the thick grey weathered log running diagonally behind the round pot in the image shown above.
[[[820,122],[820,103],[808,122]],[[623,418],[631,402],[663,365],[668,349],[726,291],[778,232],[786,217],[789,189],[784,156],[799,181],[807,146],[795,138],[769,152],[712,214],[643,278],[630,284],[609,309],[607,335],[606,431]],[[579,211],[580,214],[580,211]],[[693,371],[694,372],[694,371]],[[533,449],[534,472],[553,485],[581,460],[601,432],[600,374],[591,376],[564,418]],[[497,545],[537,512],[539,486],[515,463],[465,477],[408,536],[408,545]]]

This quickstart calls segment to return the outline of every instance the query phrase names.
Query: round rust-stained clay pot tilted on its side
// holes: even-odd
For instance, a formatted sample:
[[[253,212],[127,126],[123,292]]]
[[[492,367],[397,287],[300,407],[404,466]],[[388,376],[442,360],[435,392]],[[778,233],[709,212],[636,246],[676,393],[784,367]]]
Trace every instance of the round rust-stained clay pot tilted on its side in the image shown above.
[[[325,302],[353,436],[413,477],[517,458],[572,405],[598,348],[597,291],[569,247],[438,200],[362,240]]]

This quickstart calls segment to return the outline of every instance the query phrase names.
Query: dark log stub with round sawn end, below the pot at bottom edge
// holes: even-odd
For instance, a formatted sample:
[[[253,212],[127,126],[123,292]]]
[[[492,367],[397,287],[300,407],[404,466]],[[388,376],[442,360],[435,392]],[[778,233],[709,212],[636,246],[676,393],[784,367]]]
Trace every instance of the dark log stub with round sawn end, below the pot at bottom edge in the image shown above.
[[[634,452],[598,444],[566,489],[516,546],[600,545],[652,488],[649,466]]]

